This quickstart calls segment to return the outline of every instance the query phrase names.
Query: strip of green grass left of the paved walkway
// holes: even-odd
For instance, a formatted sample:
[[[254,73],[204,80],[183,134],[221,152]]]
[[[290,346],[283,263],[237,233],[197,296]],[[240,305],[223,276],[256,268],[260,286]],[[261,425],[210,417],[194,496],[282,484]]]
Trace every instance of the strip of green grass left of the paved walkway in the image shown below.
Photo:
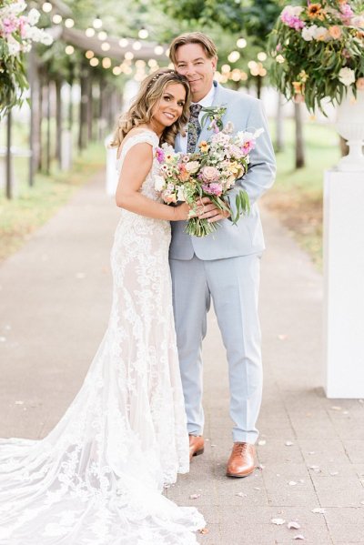
[[[77,187],[85,184],[105,163],[104,146],[91,144],[75,159],[69,172],[52,166],[51,176],[35,176],[34,187],[27,185],[28,164],[24,158],[15,160],[15,197],[0,196],[0,260],[9,257],[24,244],[36,228],[45,224],[56,210],[66,204]]]

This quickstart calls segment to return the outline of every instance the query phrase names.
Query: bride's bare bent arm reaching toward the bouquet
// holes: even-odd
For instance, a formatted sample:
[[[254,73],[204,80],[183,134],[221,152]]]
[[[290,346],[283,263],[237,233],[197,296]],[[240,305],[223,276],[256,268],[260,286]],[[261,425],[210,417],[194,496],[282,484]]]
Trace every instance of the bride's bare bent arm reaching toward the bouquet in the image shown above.
[[[168,207],[139,192],[153,164],[153,147],[136,144],[126,153],[116,188],[116,205],[140,216],[179,221],[187,219],[190,208],[186,203]]]

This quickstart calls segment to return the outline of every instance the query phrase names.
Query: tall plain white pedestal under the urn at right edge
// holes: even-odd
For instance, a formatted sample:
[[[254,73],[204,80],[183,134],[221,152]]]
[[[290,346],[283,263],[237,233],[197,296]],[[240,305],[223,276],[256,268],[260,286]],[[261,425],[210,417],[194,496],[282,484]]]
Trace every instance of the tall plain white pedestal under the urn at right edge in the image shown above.
[[[364,398],[364,172],[325,173],[324,278],[324,388]]]

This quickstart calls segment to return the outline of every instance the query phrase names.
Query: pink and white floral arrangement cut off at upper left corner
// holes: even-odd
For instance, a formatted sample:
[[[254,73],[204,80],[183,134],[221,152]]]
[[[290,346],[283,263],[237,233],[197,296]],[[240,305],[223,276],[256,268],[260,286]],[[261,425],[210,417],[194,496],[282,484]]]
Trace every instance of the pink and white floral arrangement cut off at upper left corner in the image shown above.
[[[33,42],[53,42],[51,35],[36,26],[40,13],[31,9],[25,14],[26,7],[24,0],[0,0],[0,116],[22,103],[28,86],[24,54]]]

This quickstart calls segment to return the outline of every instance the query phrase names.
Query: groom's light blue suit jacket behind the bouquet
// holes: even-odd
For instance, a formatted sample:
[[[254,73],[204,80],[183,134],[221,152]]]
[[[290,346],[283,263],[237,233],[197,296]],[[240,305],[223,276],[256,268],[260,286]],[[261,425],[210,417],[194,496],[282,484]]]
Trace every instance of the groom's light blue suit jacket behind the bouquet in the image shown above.
[[[200,259],[223,259],[227,257],[248,256],[264,249],[263,230],[260,223],[257,200],[273,185],[276,163],[273,147],[268,133],[267,117],[262,103],[257,98],[218,85],[215,91],[213,106],[227,106],[222,119],[234,124],[234,131],[250,130],[254,132],[260,127],[264,133],[258,137],[256,148],[250,152],[250,165],[245,177],[240,178],[236,186],[229,192],[230,205],[235,208],[235,197],[241,187],[248,193],[251,210],[248,216],[240,217],[234,226],[228,219],[219,222],[217,232],[207,237],[190,237],[185,233],[185,221],[172,222],[172,241],[169,257],[172,259],[191,259],[194,254]],[[208,120],[202,128],[197,144],[208,140],[212,135],[207,130]],[[180,151],[178,139],[176,150]]]

